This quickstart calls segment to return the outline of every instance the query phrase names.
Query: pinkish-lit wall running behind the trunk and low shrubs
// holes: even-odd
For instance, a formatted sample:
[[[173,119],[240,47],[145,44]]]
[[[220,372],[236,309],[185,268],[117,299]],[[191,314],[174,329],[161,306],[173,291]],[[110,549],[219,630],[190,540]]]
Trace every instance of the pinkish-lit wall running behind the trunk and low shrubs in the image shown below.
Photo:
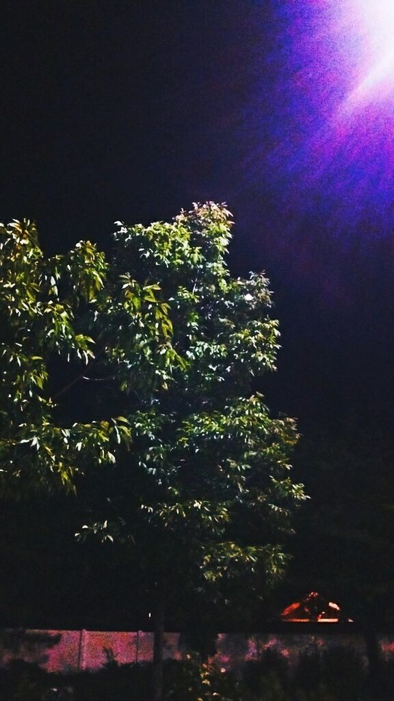
[[[394,634],[380,638],[381,651],[394,662]],[[330,634],[220,634],[215,661],[224,669],[239,669],[245,662],[258,661],[267,650],[275,650],[290,665],[301,653],[313,653],[341,646],[351,648],[366,662],[365,643],[358,633]],[[181,660],[186,655],[184,637],[165,634],[165,657]],[[0,666],[11,660],[34,662],[48,672],[97,671],[109,659],[119,664],[150,662],[153,633],[100,632],[87,630],[0,630]]]

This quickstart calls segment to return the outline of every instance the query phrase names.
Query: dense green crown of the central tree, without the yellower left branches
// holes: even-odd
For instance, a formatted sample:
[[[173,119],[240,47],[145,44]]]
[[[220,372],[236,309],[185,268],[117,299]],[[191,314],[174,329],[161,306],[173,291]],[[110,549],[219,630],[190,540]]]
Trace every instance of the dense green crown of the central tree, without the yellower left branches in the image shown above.
[[[141,343],[140,365],[117,357],[122,387],[133,389],[122,405],[133,451],[100,484],[107,507],[92,501],[99,518],[80,537],[126,545],[156,600],[188,587],[230,599],[243,579],[264,592],[284,571],[292,511],[304,500],[290,479],[294,421],[271,418],[253,393],[278,349],[268,282],[231,277],[230,238],[231,215],[213,203],[169,224],[119,224],[115,235],[125,289],[160,290],[175,361],[151,382],[151,346]]]

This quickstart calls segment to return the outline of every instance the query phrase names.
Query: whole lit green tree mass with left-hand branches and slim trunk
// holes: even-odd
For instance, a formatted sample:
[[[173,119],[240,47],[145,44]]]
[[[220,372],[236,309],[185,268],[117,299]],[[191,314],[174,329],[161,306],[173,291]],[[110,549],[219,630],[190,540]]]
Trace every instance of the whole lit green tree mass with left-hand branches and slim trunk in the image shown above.
[[[304,500],[294,421],[253,392],[278,350],[268,281],[231,277],[213,203],[118,224],[110,262],[90,243],[44,259],[29,223],[0,234],[4,491],[77,486],[81,534],[123,548],[154,608],[157,701],[171,606],[264,593]]]

